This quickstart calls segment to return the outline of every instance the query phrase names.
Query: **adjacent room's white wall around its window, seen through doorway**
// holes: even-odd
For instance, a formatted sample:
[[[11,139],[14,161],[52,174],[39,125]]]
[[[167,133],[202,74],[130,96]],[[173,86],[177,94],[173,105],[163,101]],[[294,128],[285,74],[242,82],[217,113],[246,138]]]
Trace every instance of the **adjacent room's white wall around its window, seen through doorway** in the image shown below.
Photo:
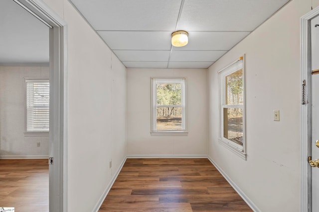
[[[23,77],[48,79],[49,68],[0,66],[0,158],[46,158],[49,154],[48,136],[24,136]]]

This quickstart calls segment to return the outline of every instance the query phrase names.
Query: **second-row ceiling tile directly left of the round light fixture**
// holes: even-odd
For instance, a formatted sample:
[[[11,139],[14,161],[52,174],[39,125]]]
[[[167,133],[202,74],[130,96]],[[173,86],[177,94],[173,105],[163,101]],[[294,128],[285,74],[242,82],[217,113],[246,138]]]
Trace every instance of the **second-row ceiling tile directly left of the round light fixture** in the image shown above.
[[[170,50],[171,31],[98,31],[113,50]]]

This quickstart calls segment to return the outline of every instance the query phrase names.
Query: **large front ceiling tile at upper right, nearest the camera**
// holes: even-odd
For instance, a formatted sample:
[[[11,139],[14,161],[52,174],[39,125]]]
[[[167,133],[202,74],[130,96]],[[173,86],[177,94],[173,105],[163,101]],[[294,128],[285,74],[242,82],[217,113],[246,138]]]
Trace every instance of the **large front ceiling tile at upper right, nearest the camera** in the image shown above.
[[[177,29],[252,31],[289,0],[185,0]]]

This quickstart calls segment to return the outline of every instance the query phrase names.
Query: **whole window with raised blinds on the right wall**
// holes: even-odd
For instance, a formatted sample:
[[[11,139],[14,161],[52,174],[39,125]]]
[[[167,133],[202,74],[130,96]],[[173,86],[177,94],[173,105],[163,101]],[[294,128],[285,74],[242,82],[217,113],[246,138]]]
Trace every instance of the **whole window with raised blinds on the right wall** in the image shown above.
[[[219,74],[219,142],[246,158],[244,58]]]

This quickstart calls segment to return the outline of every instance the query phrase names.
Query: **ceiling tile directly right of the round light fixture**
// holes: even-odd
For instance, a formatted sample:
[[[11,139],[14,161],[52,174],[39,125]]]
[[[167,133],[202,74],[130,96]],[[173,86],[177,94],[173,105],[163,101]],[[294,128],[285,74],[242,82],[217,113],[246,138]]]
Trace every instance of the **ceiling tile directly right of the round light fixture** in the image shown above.
[[[188,32],[188,44],[173,50],[229,50],[250,32]]]

